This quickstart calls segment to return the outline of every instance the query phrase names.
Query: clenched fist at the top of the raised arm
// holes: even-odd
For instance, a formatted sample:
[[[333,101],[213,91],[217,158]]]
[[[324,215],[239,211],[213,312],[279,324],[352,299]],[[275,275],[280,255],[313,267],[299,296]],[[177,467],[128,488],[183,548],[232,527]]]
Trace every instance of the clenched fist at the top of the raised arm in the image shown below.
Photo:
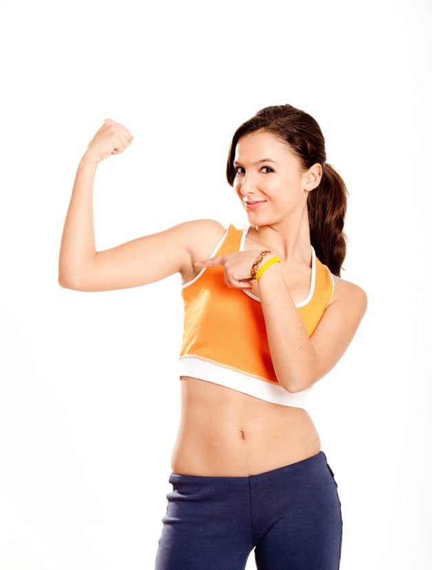
[[[119,155],[132,142],[130,130],[112,119],[105,119],[84,153],[85,160],[99,163],[111,155]]]

